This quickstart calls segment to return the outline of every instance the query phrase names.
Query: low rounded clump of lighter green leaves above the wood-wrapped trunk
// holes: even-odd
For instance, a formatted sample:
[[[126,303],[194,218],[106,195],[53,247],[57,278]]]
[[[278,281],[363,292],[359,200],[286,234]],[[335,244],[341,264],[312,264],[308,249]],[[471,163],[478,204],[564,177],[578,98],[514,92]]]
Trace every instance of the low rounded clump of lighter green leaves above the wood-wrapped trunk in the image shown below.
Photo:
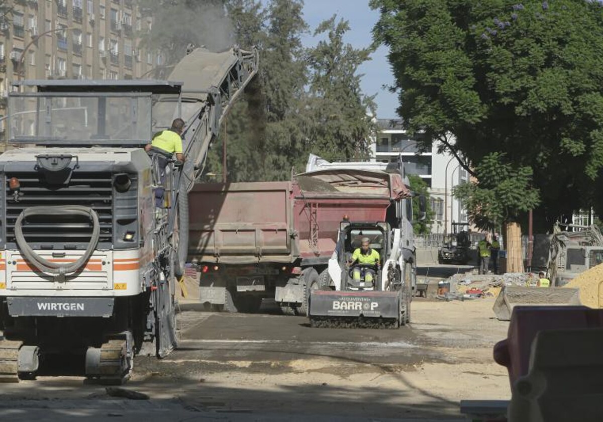
[[[452,194],[467,206],[470,221],[494,231],[501,222],[518,221],[521,213],[538,206],[538,191],[531,186],[532,169],[514,167],[506,154],[491,153],[475,168],[478,181],[455,186]]]

